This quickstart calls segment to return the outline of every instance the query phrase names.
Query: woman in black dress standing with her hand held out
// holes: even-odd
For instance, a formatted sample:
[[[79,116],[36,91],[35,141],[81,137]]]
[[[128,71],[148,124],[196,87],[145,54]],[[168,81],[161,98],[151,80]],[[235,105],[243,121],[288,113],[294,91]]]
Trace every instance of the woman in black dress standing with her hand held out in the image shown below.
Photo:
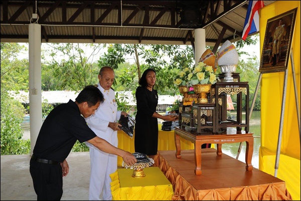
[[[156,112],[158,93],[154,89],[156,72],[146,69],[136,89],[137,113],[135,124],[135,152],[144,153],[155,158],[158,150],[158,118],[165,121],[175,121],[176,116],[163,116]]]

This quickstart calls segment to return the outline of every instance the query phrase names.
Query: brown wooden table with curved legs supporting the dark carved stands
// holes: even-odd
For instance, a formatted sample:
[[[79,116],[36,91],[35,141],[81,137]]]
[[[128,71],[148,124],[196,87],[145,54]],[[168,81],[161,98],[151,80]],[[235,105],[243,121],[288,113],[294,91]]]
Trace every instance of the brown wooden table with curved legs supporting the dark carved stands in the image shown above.
[[[176,157],[181,158],[181,140],[180,137],[189,140],[194,143],[194,154],[195,154],[195,174],[202,174],[202,149],[201,145],[205,143],[217,144],[216,154],[222,155],[222,144],[224,143],[236,143],[246,142],[246,170],[252,171],[252,155],[253,155],[253,133],[202,133],[198,134],[196,131],[186,131],[180,127],[175,128],[175,143],[176,143]]]

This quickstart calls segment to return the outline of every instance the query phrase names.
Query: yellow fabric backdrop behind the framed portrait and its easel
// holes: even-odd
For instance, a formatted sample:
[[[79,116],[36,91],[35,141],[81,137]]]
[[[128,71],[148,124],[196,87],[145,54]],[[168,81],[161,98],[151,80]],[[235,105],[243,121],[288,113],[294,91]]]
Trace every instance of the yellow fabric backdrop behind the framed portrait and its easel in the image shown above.
[[[294,8],[297,8],[297,12],[291,48],[300,108],[300,1],[276,1],[260,10],[260,54],[267,20]],[[300,138],[290,56],[287,69],[287,91],[277,177],[285,181],[293,200],[300,200]],[[271,175],[275,173],[283,84],[284,72],[262,74],[259,169]]]

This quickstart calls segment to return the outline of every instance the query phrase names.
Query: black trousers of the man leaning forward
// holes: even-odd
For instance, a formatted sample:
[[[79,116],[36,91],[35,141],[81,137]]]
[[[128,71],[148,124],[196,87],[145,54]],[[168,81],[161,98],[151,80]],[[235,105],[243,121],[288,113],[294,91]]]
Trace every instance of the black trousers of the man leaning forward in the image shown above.
[[[37,200],[61,200],[63,195],[63,174],[61,164],[45,164],[30,160],[30,174]]]

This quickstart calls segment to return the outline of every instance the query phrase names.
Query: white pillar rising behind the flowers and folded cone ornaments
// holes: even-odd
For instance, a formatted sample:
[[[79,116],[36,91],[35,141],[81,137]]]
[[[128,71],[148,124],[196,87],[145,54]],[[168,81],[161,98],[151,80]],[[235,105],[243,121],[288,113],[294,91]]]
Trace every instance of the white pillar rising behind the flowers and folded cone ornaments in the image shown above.
[[[195,62],[199,63],[199,59],[206,50],[206,34],[205,29],[195,30]]]

